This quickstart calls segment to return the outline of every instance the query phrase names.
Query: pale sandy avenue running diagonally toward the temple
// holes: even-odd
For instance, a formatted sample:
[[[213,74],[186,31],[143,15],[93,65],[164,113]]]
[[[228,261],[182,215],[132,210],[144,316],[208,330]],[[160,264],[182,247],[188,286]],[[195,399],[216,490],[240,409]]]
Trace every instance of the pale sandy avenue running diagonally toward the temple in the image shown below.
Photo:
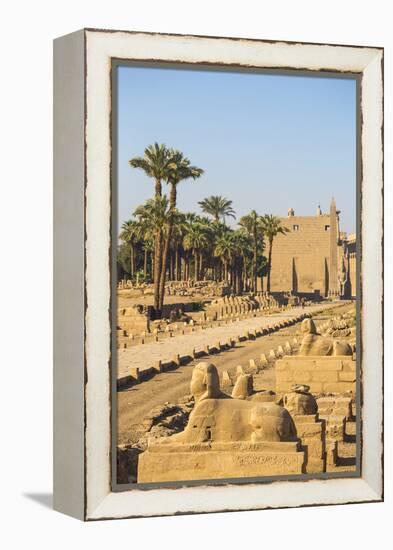
[[[334,304],[340,310],[343,307],[340,304]],[[152,367],[157,361],[170,361],[175,354],[179,355],[191,355],[192,350],[202,350],[204,346],[209,345],[213,347],[218,341],[224,343],[229,338],[236,338],[236,336],[244,334],[247,330],[258,329],[260,327],[273,326],[276,323],[296,317],[302,313],[312,313],[318,310],[329,310],[332,308],[332,303],[328,304],[316,304],[307,306],[305,308],[293,308],[280,313],[250,317],[249,319],[243,319],[238,322],[230,323],[222,326],[214,326],[205,330],[197,330],[186,335],[176,335],[173,338],[166,338],[159,342],[149,342],[146,344],[137,344],[127,349],[120,349],[118,351],[118,378],[126,376],[130,367],[138,367],[141,371]],[[281,331],[280,331],[281,332]],[[262,343],[263,341],[263,343]],[[279,344],[285,344],[285,339],[281,336],[276,341],[275,345],[272,342],[266,348],[265,344],[269,342],[268,337],[260,337],[256,346],[260,344],[263,346],[261,352],[269,352],[273,347],[277,349]],[[259,348],[258,348],[259,349]],[[230,352],[225,352],[225,356]],[[251,356],[250,356],[251,357]],[[177,372],[179,372],[178,369]],[[164,375],[166,376],[166,375]],[[157,380],[157,376],[155,380]],[[171,378],[171,376],[169,376]]]

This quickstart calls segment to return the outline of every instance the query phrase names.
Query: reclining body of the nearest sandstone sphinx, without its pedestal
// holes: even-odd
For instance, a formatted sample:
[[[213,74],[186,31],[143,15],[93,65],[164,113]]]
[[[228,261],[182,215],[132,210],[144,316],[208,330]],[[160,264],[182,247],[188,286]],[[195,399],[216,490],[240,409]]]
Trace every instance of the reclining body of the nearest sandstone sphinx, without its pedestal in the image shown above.
[[[220,390],[214,365],[199,363],[193,370],[191,393],[195,406],[183,432],[154,441],[154,446],[207,442],[297,441],[288,411],[276,403],[232,399]]]

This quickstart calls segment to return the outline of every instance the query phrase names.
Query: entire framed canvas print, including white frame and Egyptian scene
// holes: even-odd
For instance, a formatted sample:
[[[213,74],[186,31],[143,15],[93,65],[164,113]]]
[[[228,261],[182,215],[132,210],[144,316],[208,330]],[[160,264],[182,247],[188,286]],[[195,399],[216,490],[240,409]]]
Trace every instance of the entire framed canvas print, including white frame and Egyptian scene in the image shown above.
[[[383,50],[54,43],[54,502],[383,499]]]

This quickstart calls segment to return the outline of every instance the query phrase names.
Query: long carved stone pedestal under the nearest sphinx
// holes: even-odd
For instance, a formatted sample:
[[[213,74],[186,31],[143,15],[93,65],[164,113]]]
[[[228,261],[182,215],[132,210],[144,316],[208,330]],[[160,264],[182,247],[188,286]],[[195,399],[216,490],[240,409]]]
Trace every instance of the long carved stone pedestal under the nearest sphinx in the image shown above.
[[[301,474],[297,442],[151,444],[139,456],[138,483]]]

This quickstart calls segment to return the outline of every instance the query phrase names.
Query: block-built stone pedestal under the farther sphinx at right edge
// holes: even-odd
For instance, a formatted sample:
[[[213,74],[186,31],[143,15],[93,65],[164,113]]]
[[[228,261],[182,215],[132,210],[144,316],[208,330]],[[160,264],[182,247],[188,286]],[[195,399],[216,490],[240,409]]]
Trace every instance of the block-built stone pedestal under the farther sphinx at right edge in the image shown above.
[[[348,356],[285,356],[276,361],[276,392],[307,384],[311,393],[356,393],[356,361]]]

